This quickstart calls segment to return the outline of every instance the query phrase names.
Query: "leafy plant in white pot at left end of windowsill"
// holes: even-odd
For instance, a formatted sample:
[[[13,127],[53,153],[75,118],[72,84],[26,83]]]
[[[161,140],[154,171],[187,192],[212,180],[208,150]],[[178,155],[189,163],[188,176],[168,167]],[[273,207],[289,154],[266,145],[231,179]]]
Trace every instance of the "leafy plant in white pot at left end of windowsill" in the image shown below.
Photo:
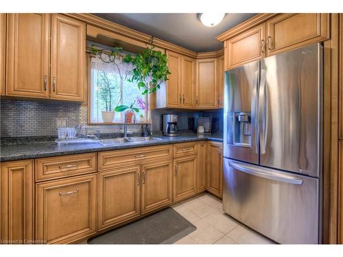
[[[111,123],[115,119],[115,111],[113,111],[115,103],[113,101],[118,98],[118,94],[120,94],[118,103],[121,101],[120,84],[115,77],[109,77],[108,73],[99,71],[97,73],[97,86],[99,97],[104,104],[102,106],[102,121]]]

